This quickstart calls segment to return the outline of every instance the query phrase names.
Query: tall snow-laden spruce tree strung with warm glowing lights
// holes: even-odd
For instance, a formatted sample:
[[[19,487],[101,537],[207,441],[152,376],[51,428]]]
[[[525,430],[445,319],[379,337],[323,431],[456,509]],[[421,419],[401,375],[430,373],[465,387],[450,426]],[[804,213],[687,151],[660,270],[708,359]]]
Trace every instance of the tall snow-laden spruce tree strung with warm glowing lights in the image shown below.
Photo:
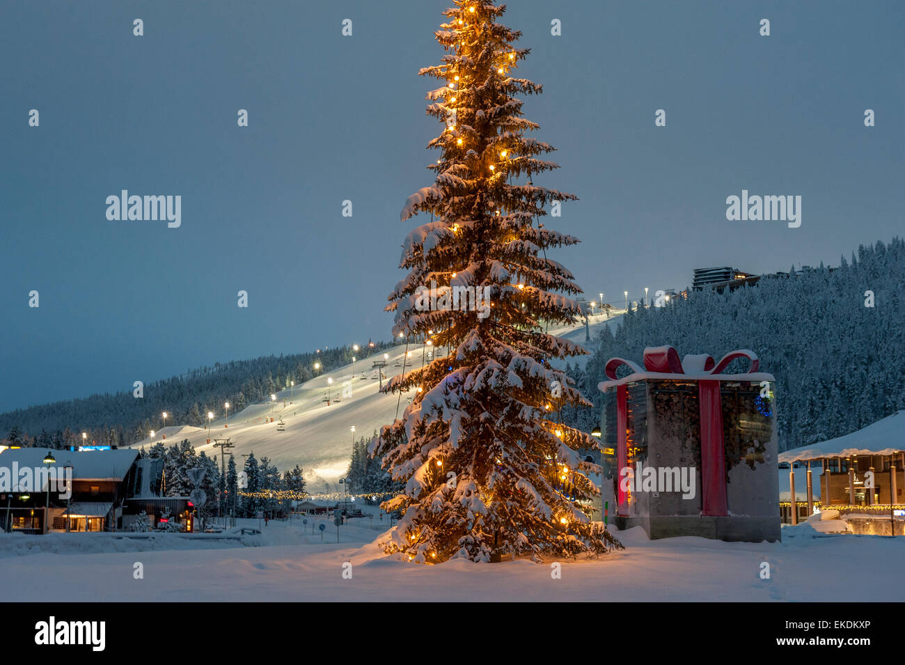
[[[576,197],[531,184],[557,165],[538,158],[553,147],[524,136],[538,125],[521,117],[516,95],[540,86],[513,75],[529,51],[512,46],[520,33],[496,23],[504,11],[456,0],[435,33],[443,64],[420,71],[443,82],[428,93],[427,113],[445,128],[429,144],[441,151],[429,166],[434,184],[402,213],[432,221],[405,239],[408,275],[387,309],[396,311],[394,337],[436,352],[387,386],[412,401],[368,449],[405,482],[383,504],[403,513],[384,547],[419,563],[621,547],[580,503],[597,493],[586,473],[599,468],[576,450],[596,442],[558,416],[564,404],[588,403],[549,360],[584,351],[543,325],[571,323],[580,309],[563,294],[581,290],[546,250],[578,241],[534,221],[546,204]],[[440,297],[428,304],[433,282]]]

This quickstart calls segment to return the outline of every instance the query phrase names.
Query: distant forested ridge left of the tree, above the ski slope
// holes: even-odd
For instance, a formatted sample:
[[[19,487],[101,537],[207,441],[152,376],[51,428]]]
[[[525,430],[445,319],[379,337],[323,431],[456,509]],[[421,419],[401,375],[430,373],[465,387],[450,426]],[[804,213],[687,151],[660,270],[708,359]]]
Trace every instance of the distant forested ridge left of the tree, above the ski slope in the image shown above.
[[[140,399],[130,389],[0,413],[0,432],[6,442],[21,446],[60,449],[78,445],[81,432],[87,432],[89,440],[100,445],[129,445],[158,429],[163,412],[167,412],[170,424],[204,427],[205,413],[222,413],[224,402],[230,403],[230,413],[238,413],[248,404],[265,401],[271,393],[288,389],[291,381],[299,385],[348,364],[356,354],[360,359],[390,346],[376,342],[374,347],[360,351],[347,346],[216,363],[146,383]],[[315,363],[319,364],[318,369],[314,368]]]

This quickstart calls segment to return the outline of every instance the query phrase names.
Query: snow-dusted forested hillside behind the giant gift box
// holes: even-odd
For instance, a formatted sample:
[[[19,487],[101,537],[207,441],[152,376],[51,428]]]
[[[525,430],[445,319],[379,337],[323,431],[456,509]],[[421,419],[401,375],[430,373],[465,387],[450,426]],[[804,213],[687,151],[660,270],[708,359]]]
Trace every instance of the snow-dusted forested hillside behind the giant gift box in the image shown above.
[[[905,241],[895,238],[862,245],[838,268],[629,312],[586,345],[593,356],[584,370],[569,367],[595,406],[566,418],[586,431],[599,422],[597,384],[609,358],[640,362],[644,347],[670,344],[680,356],[754,350],[761,370],[776,376],[780,451],[854,432],[905,408],[903,286]]]

